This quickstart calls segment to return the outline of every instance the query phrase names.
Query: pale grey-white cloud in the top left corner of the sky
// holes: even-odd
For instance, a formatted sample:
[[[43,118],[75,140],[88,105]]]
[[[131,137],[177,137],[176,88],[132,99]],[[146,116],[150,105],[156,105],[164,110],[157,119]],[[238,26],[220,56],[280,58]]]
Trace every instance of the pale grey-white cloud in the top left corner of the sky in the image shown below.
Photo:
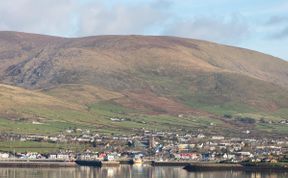
[[[61,34],[69,31],[73,0],[11,0],[0,2],[0,29]]]

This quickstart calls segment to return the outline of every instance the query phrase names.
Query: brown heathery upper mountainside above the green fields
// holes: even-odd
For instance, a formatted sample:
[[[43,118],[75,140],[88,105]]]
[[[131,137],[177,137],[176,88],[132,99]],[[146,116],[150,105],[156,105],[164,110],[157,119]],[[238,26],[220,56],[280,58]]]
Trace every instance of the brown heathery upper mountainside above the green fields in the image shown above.
[[[0,32],[0,46],[2,83],[69,102],[113,100],[168,113],[213,105],[288,108],[288,62],[247,49],[176,37],[16,32]]]

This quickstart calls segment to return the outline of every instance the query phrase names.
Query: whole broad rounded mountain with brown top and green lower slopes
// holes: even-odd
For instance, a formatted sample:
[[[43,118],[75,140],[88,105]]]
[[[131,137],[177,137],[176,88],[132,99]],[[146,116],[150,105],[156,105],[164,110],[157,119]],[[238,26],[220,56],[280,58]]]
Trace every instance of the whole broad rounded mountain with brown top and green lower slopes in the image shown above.
[[[28,104],[21,107],[21,92],[1,90],[1,100],[15,96],[1,105],[3,122],[37,116],[43,123],[56,118],[67,127],[119,132],[152,124],[160,130],[217,132],[225,126],[231,133],[288,133],[278,124],[288,113],[288,62],[256,51],[165,36],[0,32],[0,60],[2,88],[16,87],[36,104],[23,99]],[[243,122],[247,118],[255,123]]]

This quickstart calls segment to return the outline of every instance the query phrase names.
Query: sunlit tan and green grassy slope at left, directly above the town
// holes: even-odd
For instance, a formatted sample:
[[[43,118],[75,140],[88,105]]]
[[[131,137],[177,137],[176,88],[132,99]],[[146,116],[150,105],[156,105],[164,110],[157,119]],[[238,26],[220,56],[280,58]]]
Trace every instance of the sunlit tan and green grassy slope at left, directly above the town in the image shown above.
[[[113,102],[110,97],[108,97],[109,100],[94,104],[73,105],[64,100],[55,99],[39,92],[26,91],[18,87],[9,90],[13,91],[15,101],[6,100],[5,98],[9,92],[3,90],[9,87],[2,86],[1,102],[18,103],[17,105],[8,104],[1,107],[0,130],[2,132],[57,135],[68,128],[88,128],[102,133],[110,133],[111,131],[114,133],[128,133],[133,132],[133,129],[141,128],[154,130],[192,129],[208,125],[210,122],[208,118],[204,117],[202,120],[194,117],[181,119],[166,114],[149,115],[139,113]],[[57,92],[57,94],[59,93]],[[15,115],[11,117],[11,114]],[[124,118],[125,121],[113,122],[110,120],[112,117]],[[195,122],[195,119],[199,122]],[[42,124],[33,124],[33,121]]]

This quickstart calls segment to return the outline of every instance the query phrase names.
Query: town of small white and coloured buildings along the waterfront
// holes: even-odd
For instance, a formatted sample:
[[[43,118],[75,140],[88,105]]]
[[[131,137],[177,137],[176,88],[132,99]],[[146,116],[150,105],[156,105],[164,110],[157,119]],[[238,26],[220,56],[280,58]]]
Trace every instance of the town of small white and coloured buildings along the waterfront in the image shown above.
[[[78,133],[78,134],[76,134]],[[248,133],[248,131],[247,131]],[[138,130],[132,135],[101,135],[79,128],[67,129],[57,136],[2,134],[1,141],[55,143],[84,145],[83,150],[69,148],[56,152],[0,153],[1,160],[123,160],[139,158],[143,161],[195,161],[195,162],[287,162],[288,137],[249,138],[243,134],[238,138],[203,133],[175,133]]]

